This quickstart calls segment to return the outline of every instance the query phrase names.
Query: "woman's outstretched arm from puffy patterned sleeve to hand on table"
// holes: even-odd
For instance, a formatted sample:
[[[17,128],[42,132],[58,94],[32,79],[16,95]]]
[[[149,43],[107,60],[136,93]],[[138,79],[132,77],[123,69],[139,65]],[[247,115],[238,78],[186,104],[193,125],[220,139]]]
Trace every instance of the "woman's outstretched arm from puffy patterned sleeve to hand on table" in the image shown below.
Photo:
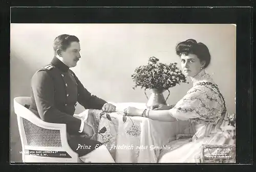
[[[218,95],[210,88],[195,86],[172,109],[150,110],[148,115],[146,113],[146,116],[160,121],[188,120],[192,118],[214,121],[218,118],[217,114],[222,111],[222,105],[220,104],[220,99],[215,100],[213,97],[218,97]],[[131,107],[127,109],[129,110],[127,115],[142,116],[143,110]]]

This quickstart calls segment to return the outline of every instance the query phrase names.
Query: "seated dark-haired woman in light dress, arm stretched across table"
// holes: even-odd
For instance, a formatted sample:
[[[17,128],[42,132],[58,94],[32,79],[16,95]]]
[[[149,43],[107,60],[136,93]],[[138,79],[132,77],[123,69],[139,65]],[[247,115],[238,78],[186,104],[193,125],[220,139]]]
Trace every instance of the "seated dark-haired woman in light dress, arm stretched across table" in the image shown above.
[[[172,108],[166,105],[158,110],[129,107],[124,113],[129,116],[145,116],[160,121],[190,120],[194,136],[169,142],[171,150],[162,150],[159,163],[198,162],[202,144],[223,144],[218,131],[226,114],[222,93],[211,77],[205,72],[210,63],[207,46],[194,39],[180,42],[176,53],[181,59],[184,75],[190,77],[193,87]]]

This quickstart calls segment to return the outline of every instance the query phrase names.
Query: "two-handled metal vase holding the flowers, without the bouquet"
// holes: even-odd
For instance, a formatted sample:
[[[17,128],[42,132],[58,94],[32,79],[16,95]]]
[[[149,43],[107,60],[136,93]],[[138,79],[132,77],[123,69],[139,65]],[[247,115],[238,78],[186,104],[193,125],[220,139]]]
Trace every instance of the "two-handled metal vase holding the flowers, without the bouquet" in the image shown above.
[[[144,91],[146,98],[147,98],[147,103],[146,103],[146,107],[149,109],[153,109],[153,106],[155,105],[167,105],[166,101],[170,95],[170,91],[167,89],[167,91],[169,92],[168,96],[166,99],[164,99],[163,96],[163,92],[166,91],[165,89],[158,89],[158,88],[152,88],[151,90],[151,95],[148,98],[147,94],[146,94],[146,89]]]

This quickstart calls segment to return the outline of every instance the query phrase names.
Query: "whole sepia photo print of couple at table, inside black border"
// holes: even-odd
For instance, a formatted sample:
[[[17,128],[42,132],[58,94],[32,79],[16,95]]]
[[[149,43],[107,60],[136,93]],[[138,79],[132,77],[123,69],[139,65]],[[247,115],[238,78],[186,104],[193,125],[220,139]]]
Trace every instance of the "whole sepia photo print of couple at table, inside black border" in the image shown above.
[[[11,23],[10,162],[236,163],[236,32]]]

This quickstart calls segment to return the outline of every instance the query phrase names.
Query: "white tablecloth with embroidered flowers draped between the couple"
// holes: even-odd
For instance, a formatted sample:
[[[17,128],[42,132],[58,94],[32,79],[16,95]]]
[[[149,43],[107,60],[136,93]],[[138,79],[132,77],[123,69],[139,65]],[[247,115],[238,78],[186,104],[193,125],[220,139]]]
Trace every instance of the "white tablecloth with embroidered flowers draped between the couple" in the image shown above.
[[[113,103],[114,104],[114,103]],[[106,131],[95,134],[92,139],[104,143],[115,162],[119,163],[156,163],[160,149],[184,130],[186,125],[178,127],[178,122],[162,122],[146,117],[127,116],[123,122],[123,109],[129,106],[145,108],[141,103],[114,104],[117,112],[104,114],[101,119],[100,110],[90,110],[86,122],[98,133],[103,127]]]

